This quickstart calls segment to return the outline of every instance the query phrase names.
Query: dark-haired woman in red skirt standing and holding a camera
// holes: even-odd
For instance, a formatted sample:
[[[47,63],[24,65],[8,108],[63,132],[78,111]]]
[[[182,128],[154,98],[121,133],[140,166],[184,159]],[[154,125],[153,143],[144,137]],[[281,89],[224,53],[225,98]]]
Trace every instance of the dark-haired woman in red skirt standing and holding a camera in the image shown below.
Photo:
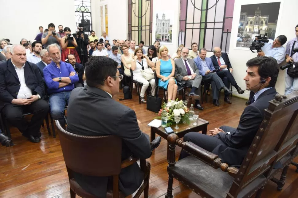
[[[76,43],[76,39],[74,39],[73,36],[69,37],[69,35],[71,35],[70,28],[65,27],[64,33],[65,33],[65,36],[63,36],[60,41],[61,48],[62,48],[61,60],[65,61],[65,59],[67,59],[67,55],[73,54],[76,57],[76,62],[80,63],[81,60],[78,55],[78,52],[76,51],[76,48],[78,47],[78,44]]]

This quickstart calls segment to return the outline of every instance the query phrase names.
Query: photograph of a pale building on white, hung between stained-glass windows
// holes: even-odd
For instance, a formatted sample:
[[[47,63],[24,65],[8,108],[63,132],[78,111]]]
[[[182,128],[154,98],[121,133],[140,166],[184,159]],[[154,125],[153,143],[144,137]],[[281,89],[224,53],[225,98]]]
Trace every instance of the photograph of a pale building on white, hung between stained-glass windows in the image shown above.
[[[170,2],[171,3],[171,2]],[[164,5],[163,5],[164,4]],[[156,7],[155,40],[160,42],[172,42],[173,11],[168,1],[159,2]]]

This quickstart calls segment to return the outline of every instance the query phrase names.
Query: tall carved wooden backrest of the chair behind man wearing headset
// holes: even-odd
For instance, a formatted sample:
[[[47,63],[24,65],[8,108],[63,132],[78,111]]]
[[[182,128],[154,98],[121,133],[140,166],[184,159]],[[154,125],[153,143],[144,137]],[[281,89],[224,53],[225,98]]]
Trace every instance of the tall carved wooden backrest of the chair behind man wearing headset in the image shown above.
[[[298,92],[289,95],[288,99],[276,94],[275,99],[269,101],[264,119],[233,181],[229,194],[236,197],[245,186],[272,168],[278,157],[281,142],[297,133],[288,130],[296,126],[293,121],[297,119],[297,101]]]

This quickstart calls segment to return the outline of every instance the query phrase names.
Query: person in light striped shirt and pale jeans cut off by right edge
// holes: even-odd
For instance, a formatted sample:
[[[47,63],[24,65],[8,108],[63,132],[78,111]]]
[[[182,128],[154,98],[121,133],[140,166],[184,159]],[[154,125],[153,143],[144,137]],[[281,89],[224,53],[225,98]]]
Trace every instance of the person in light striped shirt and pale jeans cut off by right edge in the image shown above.
[[[294,52],[295,48],[298,48],[298,25],[295,27],[296,37],[290,40],[286,49],[286,62],[293,63],[298,62],[298,53]],[[288,69],[287,69],[288,70]],[[285,90],[284,95],[298,91],[298,78],[292,78],[287,73],[285,75]]]

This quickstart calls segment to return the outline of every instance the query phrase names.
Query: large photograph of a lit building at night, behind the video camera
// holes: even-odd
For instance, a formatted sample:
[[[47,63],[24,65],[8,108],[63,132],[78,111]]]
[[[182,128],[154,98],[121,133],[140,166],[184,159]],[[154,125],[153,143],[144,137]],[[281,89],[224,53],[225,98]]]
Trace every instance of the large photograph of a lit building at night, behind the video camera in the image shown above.
[[[242,5],[236,47],[249,48],[259,30],[274,40],[279,10],[280,2]]]

